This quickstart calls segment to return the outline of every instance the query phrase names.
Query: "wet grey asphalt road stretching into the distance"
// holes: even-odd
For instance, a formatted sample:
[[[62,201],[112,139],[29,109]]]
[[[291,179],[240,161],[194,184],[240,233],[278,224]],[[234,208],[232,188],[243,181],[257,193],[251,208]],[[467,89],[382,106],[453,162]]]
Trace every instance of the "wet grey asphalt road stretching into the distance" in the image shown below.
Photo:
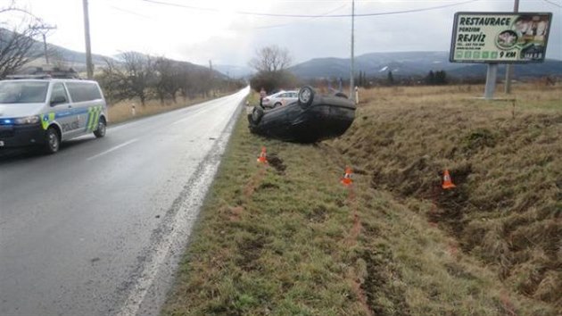
[[[248,92],[0,156],[0,315],[156,314]]]

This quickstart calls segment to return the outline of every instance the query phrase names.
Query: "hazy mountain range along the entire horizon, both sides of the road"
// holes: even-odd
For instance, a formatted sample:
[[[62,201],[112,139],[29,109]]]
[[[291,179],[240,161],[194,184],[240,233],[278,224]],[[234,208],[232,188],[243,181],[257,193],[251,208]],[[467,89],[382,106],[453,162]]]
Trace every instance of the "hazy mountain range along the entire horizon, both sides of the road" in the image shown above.
[[[4,35],[9,30],[0,29]],[[1,44],[1,43],[0,43]],[[86,70],[86,54],[62,46],[48,44],[48,50],[54,52],[54,59],[70,65],[77,71]],[[43,43],[37,41],[31,54],[42,55]],[[105,59],[110,58],[116,62],[120,61],[120,55],[103,56],[92,54],[92,62],[95,67],[105,64]],[[43,58],[32,62],[32,66],[40,66]],[[206,66],[192,62],[180,62],[182,65],[193,70],[208,70]],[[314,58],[307,62],[293,65],[288,71],[301,79],[319,78],[349,78],[349,58]],[[514,78],[525,79],[542,76],[560,76],[562,74],[562,61],[547,59],[541,63],[516,64]],[[236,65],[213,65],[213,71],[220,76],[230,78],[248,78],[253,71],[247,66]],[[449,52],[397,52],[397,53],[370,53],[355,57],[355,71],[363,71],[368,77],[385,77],[388,71],[393,71],[394,77],[426,76],[429,71],[446,71],[448,76],[457,78],[484,78],[486,75],[485,64],[449,62]],[[499,76],[505,72],[505,66],[500,65]]]

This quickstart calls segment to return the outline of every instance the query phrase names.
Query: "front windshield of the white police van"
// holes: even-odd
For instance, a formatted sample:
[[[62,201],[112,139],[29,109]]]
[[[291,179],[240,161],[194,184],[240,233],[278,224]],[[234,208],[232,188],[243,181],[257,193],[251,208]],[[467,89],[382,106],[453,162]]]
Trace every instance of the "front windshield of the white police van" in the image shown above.
[[[48,82],[0,81],[0,104],[44,103]]]

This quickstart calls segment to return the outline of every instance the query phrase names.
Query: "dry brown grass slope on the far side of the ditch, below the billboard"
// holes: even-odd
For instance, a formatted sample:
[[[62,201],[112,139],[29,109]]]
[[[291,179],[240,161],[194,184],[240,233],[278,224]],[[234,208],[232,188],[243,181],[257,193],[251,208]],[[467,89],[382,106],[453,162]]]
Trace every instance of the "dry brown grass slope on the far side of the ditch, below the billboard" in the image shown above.
[[[475,100],[475,87],[365,91],[358,120],[329,145],[510,290],[560,312],[562,87],[515,91],[515,107]],[[444,169],[458,186],[451,192],[439,188]],[[437,209],[423,206],[432,201]]]

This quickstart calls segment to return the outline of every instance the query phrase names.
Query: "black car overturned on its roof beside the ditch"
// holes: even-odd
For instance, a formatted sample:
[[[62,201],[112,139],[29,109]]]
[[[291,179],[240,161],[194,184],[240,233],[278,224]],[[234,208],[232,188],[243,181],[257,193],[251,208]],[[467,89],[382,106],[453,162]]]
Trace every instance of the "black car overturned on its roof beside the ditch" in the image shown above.
[[[355,104],[342,93],[319,96],[312,87],[302,87],[292,104],[248,114],[250,131],[290,142],[315,143],[339,137],[355,119]]]

